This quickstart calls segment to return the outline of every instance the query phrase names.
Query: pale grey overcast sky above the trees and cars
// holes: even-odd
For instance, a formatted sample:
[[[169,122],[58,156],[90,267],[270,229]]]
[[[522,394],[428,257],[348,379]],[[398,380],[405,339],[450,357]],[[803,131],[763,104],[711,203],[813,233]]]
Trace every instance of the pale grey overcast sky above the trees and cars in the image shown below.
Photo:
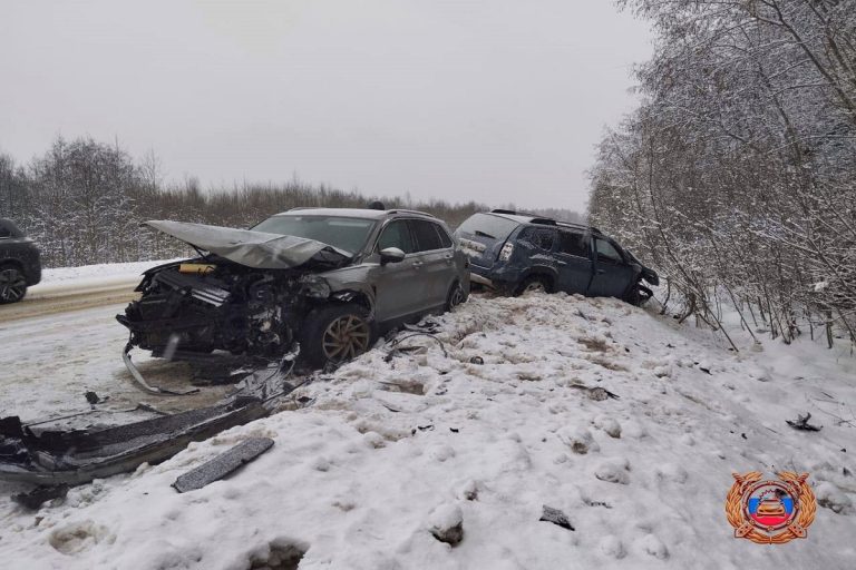
[[[204,186],[582,209],[650,51],[610,0],[4,0],[0,150],[90,135]]]

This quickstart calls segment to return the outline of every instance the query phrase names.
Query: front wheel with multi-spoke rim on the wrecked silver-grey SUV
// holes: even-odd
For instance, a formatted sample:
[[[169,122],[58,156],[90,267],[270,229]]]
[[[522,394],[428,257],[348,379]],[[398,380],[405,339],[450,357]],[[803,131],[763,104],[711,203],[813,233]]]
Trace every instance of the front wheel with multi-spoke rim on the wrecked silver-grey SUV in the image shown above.
[[[300,335],[301,357],[310,365],[341,364],[363,354],[374,341],[374,323],[356,303],[311,311]]]

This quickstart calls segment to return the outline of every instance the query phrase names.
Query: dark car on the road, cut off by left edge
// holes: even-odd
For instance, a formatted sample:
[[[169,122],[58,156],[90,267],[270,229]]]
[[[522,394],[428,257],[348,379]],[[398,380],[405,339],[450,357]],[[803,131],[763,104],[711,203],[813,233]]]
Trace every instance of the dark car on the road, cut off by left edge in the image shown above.
[[[11,219],[0,218],[0,305],[21,301],[40,281],[39,248]]]

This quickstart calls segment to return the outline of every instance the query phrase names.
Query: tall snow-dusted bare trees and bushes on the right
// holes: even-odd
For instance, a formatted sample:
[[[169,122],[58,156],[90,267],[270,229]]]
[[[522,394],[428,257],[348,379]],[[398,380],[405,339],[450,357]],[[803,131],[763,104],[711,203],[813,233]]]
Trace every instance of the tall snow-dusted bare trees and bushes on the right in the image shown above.
[[[690,315],[856,342],[856,0],[623,0],[652,21],[641,104],[600,142],[588,215]],[[818,330],[819,327],[819,330]]]

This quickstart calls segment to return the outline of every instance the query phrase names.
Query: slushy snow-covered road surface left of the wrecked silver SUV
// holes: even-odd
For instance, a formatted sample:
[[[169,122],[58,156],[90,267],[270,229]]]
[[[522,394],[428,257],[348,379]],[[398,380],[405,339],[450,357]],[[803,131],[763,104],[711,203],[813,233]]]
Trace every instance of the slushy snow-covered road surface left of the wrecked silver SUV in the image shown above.
[[[138,419],[140,413],[118,411],[139,403],[176,412],[213,404],[231,390],[205,387],[189,396],[142,391],[121,362],[127,330],[115,318],[132,295],[128,291],[81,293],[0,307],[0,416],[38,421],[84,412],[62,425],[124,423],[130,421],[125,416]],[[14,317],[8,318],[9,314]],[[189,385],[185,364],[147,360],[142,353],[135,353],[134,360],[153,385]],[[95,406],[95,413],[85,399],[87,391],[108,397]]]

